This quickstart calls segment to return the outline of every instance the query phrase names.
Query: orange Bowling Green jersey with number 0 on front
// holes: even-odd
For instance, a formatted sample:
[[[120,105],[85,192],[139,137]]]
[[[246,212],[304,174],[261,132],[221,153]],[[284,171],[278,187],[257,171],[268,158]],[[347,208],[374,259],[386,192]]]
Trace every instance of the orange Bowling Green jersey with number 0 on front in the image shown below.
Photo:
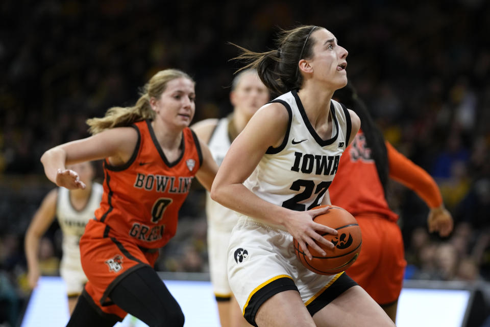
[[[201,148],[194,132],[184,128],[182,154],[168,162],[151,121],[132,127],[138,142],[130,160],[116,167],[104,160],[104,194],[95,218],[109,226],[111,235],[159,248],[175,235],[179,209],[202,165]]]

